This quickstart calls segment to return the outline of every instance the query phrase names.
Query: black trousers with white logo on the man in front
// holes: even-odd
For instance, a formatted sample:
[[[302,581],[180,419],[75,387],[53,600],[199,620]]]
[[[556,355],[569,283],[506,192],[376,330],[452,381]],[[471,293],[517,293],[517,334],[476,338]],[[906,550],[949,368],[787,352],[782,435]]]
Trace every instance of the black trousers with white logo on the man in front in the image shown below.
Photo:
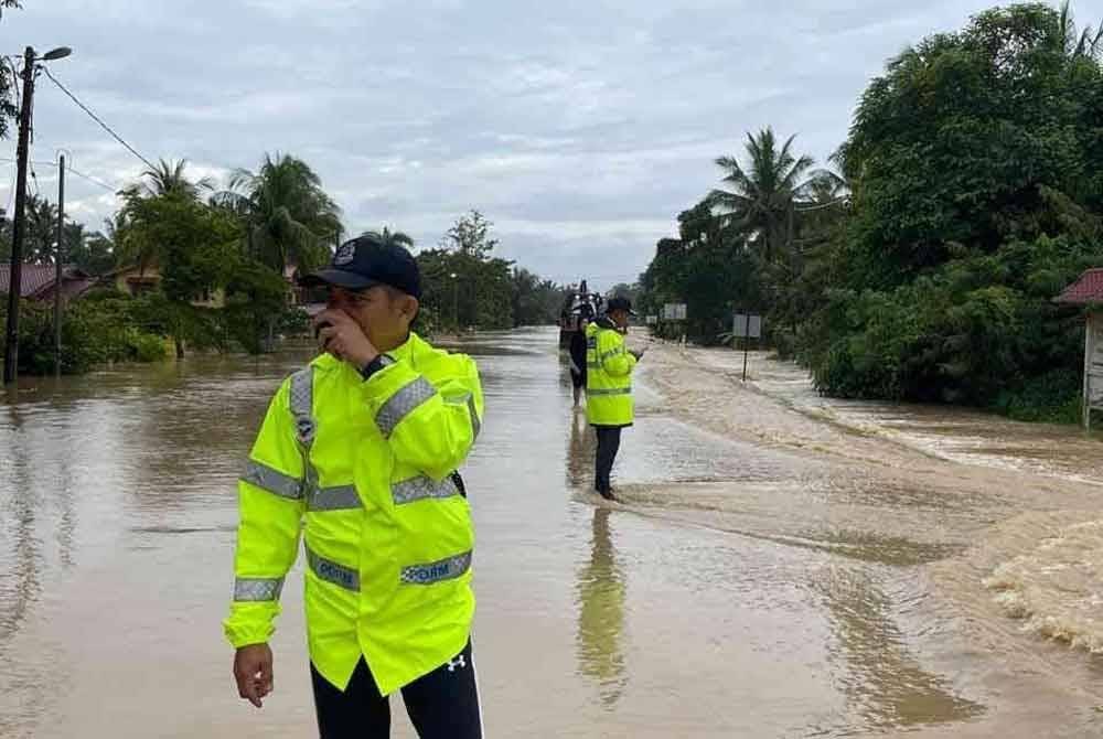
[[[361,658],[344,692],[310,665],[321,739],[386,739],[390,703]],[[453,658],[403,688],[403,703],[421,739],[482,739],[482,711],[470,642]]]

